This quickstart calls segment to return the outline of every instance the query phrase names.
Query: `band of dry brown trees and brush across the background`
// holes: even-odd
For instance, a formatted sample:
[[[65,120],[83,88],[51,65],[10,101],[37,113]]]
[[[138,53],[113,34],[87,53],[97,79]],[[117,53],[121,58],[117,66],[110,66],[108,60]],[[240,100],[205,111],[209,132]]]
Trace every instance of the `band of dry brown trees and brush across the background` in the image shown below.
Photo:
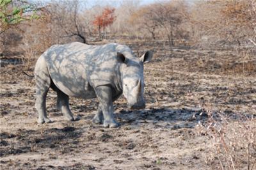
[[[162,40],[170,49],[177,42],[185,41],[199,47],[256,45],[254,0],[195,1],[193,4],[173,0],[147,5],[140,5],[139,1],[121,1],[115,6],[96,4],[90,8],[85,1],[78,0],[37,3],[33,4],[33,9],[28,4],[10,1],[4,9],[10,12],[10,15],[4,14],[6,21],[14,16],[14,10],[19,20],[13,24],[4,22],[1,15],[2,51],[12,43],[20,43],[18,39],[22,50],[31,55],[56,43],[93,43],[116,38]],[[24,5],[26,12],[22,11]],[[3,6],[1,8],[3,12]],[[29,15],[34,16],[33,19],[22,19]]]

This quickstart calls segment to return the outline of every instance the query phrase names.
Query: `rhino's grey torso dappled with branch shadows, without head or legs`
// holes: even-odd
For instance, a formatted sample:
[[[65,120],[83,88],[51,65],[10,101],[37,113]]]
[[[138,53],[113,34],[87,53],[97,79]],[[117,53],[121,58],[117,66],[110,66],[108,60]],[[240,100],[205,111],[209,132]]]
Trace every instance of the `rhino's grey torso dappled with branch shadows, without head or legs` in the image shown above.
[[[44,56],[52,81],[69,96],[93,98],[95,87],[110,84],[115,88],[118,82],[115,43],[54,45]]]

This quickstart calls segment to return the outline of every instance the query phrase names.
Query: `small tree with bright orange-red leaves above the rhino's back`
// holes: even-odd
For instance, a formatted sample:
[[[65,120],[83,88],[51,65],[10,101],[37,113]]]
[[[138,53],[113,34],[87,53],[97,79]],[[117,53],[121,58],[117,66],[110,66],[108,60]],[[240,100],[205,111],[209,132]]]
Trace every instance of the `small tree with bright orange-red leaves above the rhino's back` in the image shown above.
[[[101,29],[103,29],[103,33],[105,32],[105,29],[107,26],[110,26],[113,24],[115,20],[115,8],[104,8],[103,12],[101,15],[97,15],[95,19],[93,20],[93,25],[98,29],[99,31],[99,37],[100,39],[102,38],[101,36]]]

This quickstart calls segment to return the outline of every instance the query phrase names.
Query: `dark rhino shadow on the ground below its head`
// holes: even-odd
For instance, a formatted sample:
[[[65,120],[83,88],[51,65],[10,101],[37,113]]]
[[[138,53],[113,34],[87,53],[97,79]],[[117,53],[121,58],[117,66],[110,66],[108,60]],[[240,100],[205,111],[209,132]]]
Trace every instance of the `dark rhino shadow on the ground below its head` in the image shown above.
[[[116,118],[123,125],[143,125],[152,123],[164,128],[194,128],[198,121],[204,123],[208,119],[204,109],[170,109],[150,108],[141,111],[127,111],[122,109]]]

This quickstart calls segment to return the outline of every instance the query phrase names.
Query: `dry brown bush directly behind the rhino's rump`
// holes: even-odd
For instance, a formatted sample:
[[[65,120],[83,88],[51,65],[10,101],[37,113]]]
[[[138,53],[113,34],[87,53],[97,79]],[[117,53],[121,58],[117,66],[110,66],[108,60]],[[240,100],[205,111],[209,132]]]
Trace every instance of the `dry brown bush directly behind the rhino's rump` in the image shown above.
[[[36,58],[40,56],[51,45],[57,43],[58,37],[52,32],[51,14],[45,10],[44,7],[40,8],[40,19],[28,20],[26,24],[20,25],[22,29],[22,43],[21,47],[23,54],[21,59],[25,65],[26,70],[31,69],[35,65]]]

